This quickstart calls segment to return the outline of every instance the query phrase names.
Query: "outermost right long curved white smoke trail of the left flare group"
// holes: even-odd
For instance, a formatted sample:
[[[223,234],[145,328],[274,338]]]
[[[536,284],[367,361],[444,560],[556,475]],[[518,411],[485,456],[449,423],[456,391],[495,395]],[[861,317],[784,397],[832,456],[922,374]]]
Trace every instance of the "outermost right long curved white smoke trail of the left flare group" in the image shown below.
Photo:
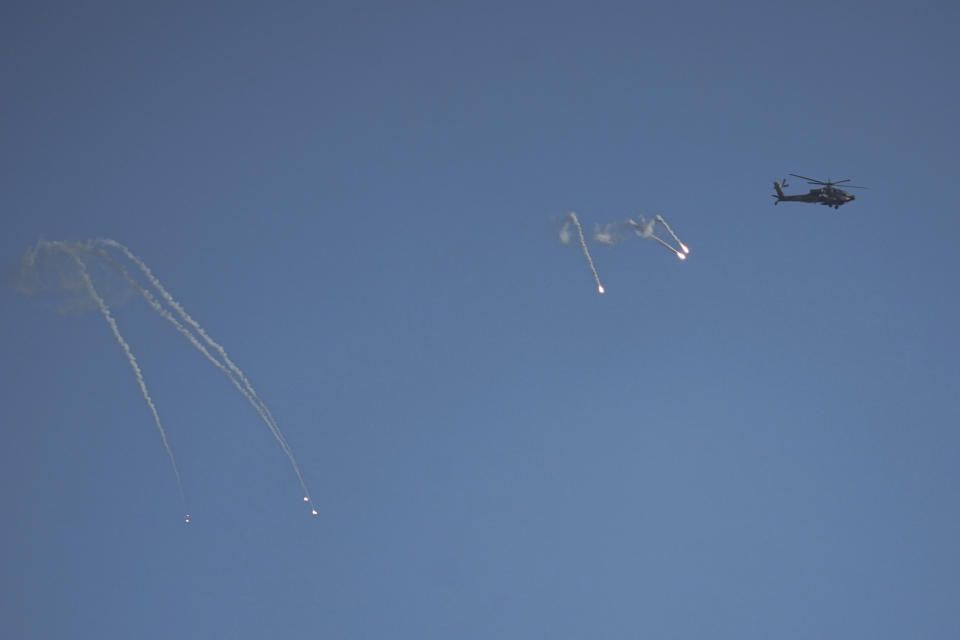
[[[226,365],[226,367],[224,367],[219,361],[216,361],[208,352],[206,352],[205,349],[200,348],[201,352],[205,353],[208,359],[214,362],[214,364],[218,368],[220,368],[220,370],[223,371],[224,374],[226,374],[227,377],[231,379],[231,381],[233,381],[234,386],[237,387],[240,393],[244,395],[247,401],[250,402],[253,408],[260,415],[260,418],[263,420],[264,424],[266,424],[267,429],[270,430],[270,433],[273,435],[274,439],[280,445],[280,449],[283,451],[283,453],[287,456],[287,459],[290,461],[290,466],[293,468],[293,471],[297,476],[297,480],[300,483],[300,488],[303,490],[304,502],[310,505],[311,512],[313,513],[313,515],[318,515],[318,511],[316,509],[316,506],[313,503],[313,499],[310,497],[310,490],[307,487],[307,482],[303,477],[303,473],[300,471],[300,466],[297,464],[296,457],[293,455],[293,450],[290,448],[290,445],[287,442],[287,439],[284,437],[283,432],[280,431],[280,427],[277,424],[276,419],[273,417],[273,414],[270,413],[270,409],[267,407],[266,403],[260,398],[260,395],[257,393],[256,389],[253,388],[253,385],[247,379],[246,375],[243,373],[240,367],[234,364],[234,362],[230,359],[230,356],[227,355],[226,349],[224,349],[219,343],[214,341],[207,334],[207,332],[203,330],[203,327],[201,327],[200,324],[196,320],[194,320],[186,312],[186,310],[184,310],[183,306],[179,302],[177,302],[177,300],[174,299],[174,297],[170,294],[169,291],[167,291],[167,289],[163,286],[163,284],[160,283],[160,280],[153,274],[150,268],[147,267],[146,263],[144,263],[143,260],[141,260],[136,255],[134,255],[134,253],[131,252],[126,246],[117,242],[116,240],[111,240],[109,238],[98,238],[94,242],[97,244],[112,247],[121,251],[124,254],[124,256],[127,257],[128,260],[133,262],[137,266],[137,268],[140,269],[143,275],[147,278],[147,281],[150,283],[150,285],[160,294],[160,297],[163,298],[163,300],[180,316],[180,318],[187,325],[190,326],[190,328],[196,331],[197,335],[199,335],[210,348],[214,349],[217,352],[220,358],[222,358],[223,363]],[[147,300],[149,303],[149,298],[147,298]],[[157,303],[157,305],[159,306],[159,303]],[[151,304],[151,307],[154,309],[154,311],[157,310],[157,307],[152,304]],[[160,315],[163,316],[163,313],[161,312]],[[172,316],[169,314],[169,312],[167,315],[169,317],[167,317],[166,319],[169,321],[172,318]],[[176,324],[179,324],[179,323],[176,323]],[[185,336],[189,334],[189,331],[186,330],[186,327],[183,327],[182,330],[180,330],[180,332]],[[189,335],[188,339],[191,339],[191,343],[194,345],[194,347],[200,347],[199,341],[197,341],[192,334]],[[227,369],[229,369],[229,373]],[[236,379],[234,378],[234,376],[236,376]],[[240,383],[242,383],[242,387],[241,387],[241,384],[237,382],[237,380],[239,380]]]

